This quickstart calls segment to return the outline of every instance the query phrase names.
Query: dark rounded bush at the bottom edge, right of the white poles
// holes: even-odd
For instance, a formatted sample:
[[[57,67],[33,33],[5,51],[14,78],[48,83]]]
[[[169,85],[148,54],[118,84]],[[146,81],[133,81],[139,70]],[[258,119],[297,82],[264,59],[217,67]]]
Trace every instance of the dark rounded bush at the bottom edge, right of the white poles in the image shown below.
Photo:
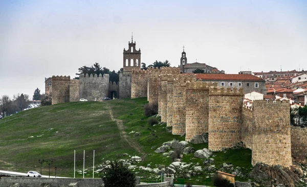
[[[112,161],[100,176],[105,187],[133,187],[136,186],[136,177],[122,161]]]

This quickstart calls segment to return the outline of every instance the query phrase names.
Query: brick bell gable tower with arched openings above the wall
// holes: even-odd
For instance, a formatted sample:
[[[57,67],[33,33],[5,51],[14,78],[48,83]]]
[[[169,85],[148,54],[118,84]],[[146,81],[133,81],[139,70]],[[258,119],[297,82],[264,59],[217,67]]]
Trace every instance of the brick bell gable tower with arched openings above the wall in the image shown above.
[[[129,49],[124,49],[123,68],[124,72],[131,72],[132,69],[141,68],[141,49],[136,50],[136,42],[133,42],[133,35],[131,36],[131,43],[128,43]]]

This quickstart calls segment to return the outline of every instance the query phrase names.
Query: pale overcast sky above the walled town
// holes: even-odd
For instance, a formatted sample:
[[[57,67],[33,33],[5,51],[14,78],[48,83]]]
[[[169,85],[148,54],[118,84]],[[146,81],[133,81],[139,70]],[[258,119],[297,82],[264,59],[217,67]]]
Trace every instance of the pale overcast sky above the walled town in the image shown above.
[[[307,70],[307,1],[0,1],[0,96],[45,92],[98,62],[118,71],[131,32],[141,62],[207,63],[227,74]]]

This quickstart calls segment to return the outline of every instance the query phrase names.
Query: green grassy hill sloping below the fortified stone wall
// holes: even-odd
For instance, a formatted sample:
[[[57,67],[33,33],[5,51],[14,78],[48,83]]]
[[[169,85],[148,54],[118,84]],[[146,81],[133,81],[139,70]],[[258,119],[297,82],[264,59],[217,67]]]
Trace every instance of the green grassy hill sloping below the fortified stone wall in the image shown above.
[[[165,165],[171,163],[169,157],[154,150],[162,143],[184,137],[166,131],[166,125],[149,126],[143,115],[146,98],[110,100],[105,102],[71,102],[39,107],[11,115],[0,120],[0,168],[2,170],[27,172],[40,171],[38,159],[53,160],[51,175],[57,167],[57,176],[73,177],[74,150],[76,150],[76,169],[83,169],[83,150],[86,177],[92,177],[93,150],[95,165],[106,160],[125,159],[128,155],[144,158],[138,166]],[[135,133],[139,132],[139,136]],[[155,149],[152,149],[155,146]],[[192,145],[195,150],[208,148],[208,144]],[[222,166],[231,162],[234,166],[251,168],[251,151],[236,149],[214,154],[214,165]],[[198,163],[202,159],[186,155],[184,161]],[[42,165],[42,174],[47,175],[49,166]],[[152,174],[136,170],[137,176],[148,180]],[[206,173],[192,176],[186,181],[195,184],[208,182]],[[82,177],[77,174],[76,177]],[[95,174],[95,177],[99,177]],[[206,178],[207,177],[207,178]],[[245,180],[245,179],[243,179]]]

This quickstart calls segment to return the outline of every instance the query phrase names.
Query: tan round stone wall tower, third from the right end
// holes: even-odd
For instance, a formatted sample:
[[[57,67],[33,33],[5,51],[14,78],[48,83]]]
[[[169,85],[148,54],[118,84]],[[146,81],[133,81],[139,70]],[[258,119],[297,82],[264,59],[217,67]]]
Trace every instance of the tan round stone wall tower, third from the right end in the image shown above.
[[[187,83],[185,141],[190,141],[195,135],[208,133],[210,86],[213,84],[202,81]]]

